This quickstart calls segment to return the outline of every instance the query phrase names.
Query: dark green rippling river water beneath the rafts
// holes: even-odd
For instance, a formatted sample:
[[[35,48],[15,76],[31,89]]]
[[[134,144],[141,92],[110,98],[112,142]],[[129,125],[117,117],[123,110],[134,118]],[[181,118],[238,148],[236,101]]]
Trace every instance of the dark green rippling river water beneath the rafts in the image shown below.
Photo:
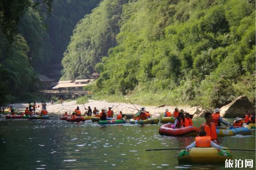
[[[232,122],[233,119],[226,119]],[[203,118],[194,118],[199,126]],[[145,151],[186,147],[195,137],[161,136],[157,125],[97,125],[90,120],[66,122],[0,119],[0,170],[223,170],[225,164],[179,164],[179,150]],[[251,136],[219,137],[229,148],[255,148]],[[233,160],[253,159],[255,152],[233,151]],[[234,164],[235,166],[235,164]],[[245,168],[240,168],[245,169]]]

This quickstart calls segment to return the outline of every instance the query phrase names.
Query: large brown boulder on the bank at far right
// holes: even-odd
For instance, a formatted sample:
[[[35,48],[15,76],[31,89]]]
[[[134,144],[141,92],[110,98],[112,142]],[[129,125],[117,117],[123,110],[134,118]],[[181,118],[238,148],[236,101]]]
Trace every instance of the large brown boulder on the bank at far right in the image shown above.
[[[221,108],[221,117],[242,117],[246,110],[255,115],[255,108],[247,96],[239,96],[233,102]]]

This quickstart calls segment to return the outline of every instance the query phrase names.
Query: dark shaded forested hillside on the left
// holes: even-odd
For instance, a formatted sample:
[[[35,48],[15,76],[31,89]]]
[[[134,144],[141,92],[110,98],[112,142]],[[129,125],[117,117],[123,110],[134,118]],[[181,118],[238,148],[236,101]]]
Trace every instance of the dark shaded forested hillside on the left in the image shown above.
[[[0,105],[37,98],[37,74],[61,62],[77,21],[100,0],[41,2],[0,3]]]

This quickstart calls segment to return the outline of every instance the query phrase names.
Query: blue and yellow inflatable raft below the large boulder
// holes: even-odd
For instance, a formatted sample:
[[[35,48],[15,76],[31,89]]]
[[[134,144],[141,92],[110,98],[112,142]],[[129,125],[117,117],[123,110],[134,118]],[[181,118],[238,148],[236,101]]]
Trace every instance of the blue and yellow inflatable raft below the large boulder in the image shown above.
[[[218,136],[235,136],[235,135],[250,135],[252,131],[247,127],[237,127],[232,129],[216,129]]]

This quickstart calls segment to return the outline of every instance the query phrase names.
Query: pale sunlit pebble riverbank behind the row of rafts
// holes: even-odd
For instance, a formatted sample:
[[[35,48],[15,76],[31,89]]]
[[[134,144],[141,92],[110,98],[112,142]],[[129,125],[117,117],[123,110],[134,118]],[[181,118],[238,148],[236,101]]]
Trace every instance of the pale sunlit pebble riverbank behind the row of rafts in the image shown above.
[[[85,108],[88,108],[90,106],[92,109],[96,107],[99,111],[101,109],[108,109],[108,107],[113,107],[112,110],[114,113],[117,113],[118,111],[122,111],[122,113],[125,114],[135,114],[137,113],[137,109],[140,109],[141,107],[145,107],[146,111],[149,111],[149,113],[164,113],[165,110],[168,108],[169,111],[174,111],[175,106],[171,105],[165,105],[163,107],[157,108],[157,106],[141,106],[141,105],[135,105],[135,108],[130,103],[122,103],[122,102],[106,102],[106,101],[98,101],[98,100],[88,100],[88,103],[83,104],[76,104],[76,100],[73,100],[71,102],[63,102],[63,104],[53,104],[51,105],[49,102],[47,102],[47,111],[49,113],[55,113],[55,114],[63,114],[65,111],[72,112],[76,109],[77,106],[79,106],[82,113],[85,112]],[[37,103],[38,104],[38,103]],[[28,107],[27,103],[16,103],[13,105],[16,110],[24,110],[26,107]],[[184,111],[189,110],[188,107],[182,107],[178,106],[179,109],[183,109]],[[40,108],[38,108],[40,110]]]

